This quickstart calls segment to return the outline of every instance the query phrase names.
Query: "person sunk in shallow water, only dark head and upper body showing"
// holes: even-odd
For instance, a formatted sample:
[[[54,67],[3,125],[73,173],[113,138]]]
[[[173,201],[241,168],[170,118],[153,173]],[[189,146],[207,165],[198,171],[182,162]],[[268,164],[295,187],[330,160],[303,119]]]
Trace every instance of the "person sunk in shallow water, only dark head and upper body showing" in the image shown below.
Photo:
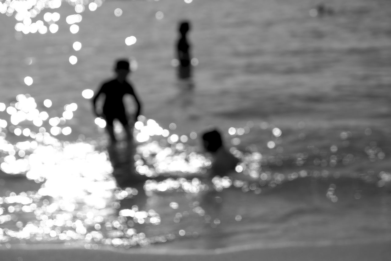
[[[203,147],[212,154],[212,170],[216,174],[226,174],[228,171],[235,170],[239,159],[233,156],[224,147],[221,134],[217,130],[212,130],[202,135]]]

